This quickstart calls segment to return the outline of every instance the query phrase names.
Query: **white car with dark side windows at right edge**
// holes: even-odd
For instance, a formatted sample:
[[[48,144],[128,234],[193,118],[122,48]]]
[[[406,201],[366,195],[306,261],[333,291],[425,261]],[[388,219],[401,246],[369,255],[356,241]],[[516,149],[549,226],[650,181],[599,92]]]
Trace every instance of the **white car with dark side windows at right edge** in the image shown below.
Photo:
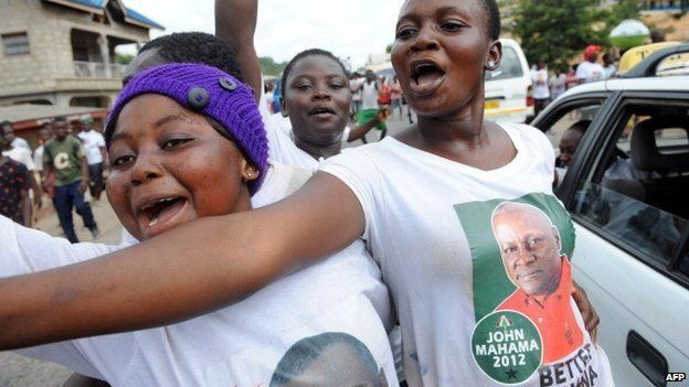
[[[580,120],[591,122],[556,194],[597,342],[617,386],[687,386],[671,381],[689,373],[689,76],[581,85],[532,125],[556,147]]]

